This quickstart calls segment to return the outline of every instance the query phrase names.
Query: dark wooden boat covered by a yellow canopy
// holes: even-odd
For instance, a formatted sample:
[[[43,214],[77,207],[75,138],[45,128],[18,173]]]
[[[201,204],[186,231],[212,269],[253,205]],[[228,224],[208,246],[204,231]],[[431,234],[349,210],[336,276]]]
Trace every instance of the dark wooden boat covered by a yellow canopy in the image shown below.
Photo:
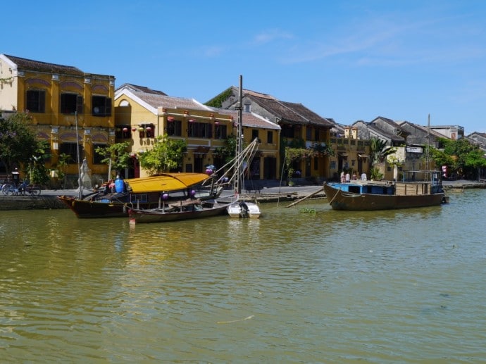
[[[161,199],[167,203],[189,197],[216,199],[223,187],[211,184],[205,173],[162,173],[150,177],[125,180],[123,192],[96,192],[80,199],[75,196],[58,196],[78,218],[127,218],[129,208],[157,208]]]

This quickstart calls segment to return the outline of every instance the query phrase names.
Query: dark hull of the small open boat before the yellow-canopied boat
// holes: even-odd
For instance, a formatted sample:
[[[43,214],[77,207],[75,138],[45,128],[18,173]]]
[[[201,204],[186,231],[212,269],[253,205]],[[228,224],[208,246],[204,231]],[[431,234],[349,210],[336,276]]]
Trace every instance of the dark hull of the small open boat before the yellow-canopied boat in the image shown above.
[[[201,210],[182,210],[173,212],[163,212],[158,209],[142,210],[129,209],[130,223],[147,223],[147,222],[169,222],[178,220],[192,220],[200,218],[210,218],[212,216],[222,215],[226,212],[228,205],[215,203],[211,207],[203,207]]]

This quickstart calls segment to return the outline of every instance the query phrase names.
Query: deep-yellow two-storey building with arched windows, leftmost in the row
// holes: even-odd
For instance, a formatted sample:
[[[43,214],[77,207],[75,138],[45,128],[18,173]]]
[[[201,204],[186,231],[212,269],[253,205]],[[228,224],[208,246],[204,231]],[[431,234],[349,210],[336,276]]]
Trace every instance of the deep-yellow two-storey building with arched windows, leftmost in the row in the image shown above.
[[[115,77],[0,54],[0,82],[0,110],[30,113],[37,137],[49,142],[52,176],[65,153],[69,180],[77,181],[83,160],[93,182],[106,180],[108,166],[94,150],[115,142]]]

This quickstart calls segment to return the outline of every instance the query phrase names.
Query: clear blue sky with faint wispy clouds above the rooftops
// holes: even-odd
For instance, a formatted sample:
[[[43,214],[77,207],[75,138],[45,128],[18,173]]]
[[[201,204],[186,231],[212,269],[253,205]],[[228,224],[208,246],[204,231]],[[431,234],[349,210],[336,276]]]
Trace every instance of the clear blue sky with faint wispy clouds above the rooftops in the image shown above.
[[[6,1],[0,54],[201,103],[239,85],[336,123],[486,132],[486,1]],[[15,4],[16,3],[16,4]]]

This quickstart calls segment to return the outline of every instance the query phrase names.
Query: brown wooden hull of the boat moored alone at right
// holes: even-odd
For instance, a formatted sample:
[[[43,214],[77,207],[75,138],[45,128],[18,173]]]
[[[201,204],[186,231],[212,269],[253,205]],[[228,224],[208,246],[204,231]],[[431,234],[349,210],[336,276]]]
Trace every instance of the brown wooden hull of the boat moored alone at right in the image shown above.
[[[356,194],[324,185],[325,196],[334,210],[375,211],[399,208],[420,208],[439,206],[446,201],[443,192],[436,194]]]

